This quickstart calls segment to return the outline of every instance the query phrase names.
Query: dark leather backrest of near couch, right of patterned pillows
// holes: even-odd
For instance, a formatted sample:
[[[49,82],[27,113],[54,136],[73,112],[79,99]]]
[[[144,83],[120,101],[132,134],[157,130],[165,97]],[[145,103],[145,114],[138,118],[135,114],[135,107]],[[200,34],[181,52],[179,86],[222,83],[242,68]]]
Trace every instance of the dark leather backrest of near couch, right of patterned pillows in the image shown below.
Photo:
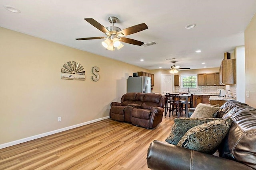
[[[240,102],[226,102],[223,119],[233,123],[219,147],[220,157],[256,168],[256,109]],[[222,108],[225,109],[225,108]]]

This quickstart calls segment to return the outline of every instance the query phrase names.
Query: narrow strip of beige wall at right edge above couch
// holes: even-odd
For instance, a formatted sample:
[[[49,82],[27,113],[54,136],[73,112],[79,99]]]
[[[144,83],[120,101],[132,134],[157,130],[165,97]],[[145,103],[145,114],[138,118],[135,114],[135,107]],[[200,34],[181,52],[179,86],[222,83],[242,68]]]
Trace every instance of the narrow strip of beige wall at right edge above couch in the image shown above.
[[[244,32],[245,46],[245,90],[246,104],[256,107],[256,15],[252,18]]]

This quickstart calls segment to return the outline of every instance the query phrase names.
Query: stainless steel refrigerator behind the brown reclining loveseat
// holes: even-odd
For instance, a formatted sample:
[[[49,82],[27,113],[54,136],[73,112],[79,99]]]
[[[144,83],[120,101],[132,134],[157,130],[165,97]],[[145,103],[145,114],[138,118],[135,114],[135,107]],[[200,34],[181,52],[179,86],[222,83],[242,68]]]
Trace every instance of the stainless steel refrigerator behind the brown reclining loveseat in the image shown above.
[[[147,76],[129,77],[127,79],[127,93],[130,92],[151,92],[151,78]]]

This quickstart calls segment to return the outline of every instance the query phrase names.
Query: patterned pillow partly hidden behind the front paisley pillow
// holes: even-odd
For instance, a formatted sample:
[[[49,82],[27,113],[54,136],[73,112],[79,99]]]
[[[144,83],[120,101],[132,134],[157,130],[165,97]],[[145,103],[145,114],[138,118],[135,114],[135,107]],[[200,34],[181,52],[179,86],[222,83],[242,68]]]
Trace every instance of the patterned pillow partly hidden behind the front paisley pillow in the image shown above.
[[[221,118],[218,118],[222,120]],[[204,123],[210,122],[212,120],[218,120],[216,118],[190,118],[181,117],[174,119],[174,124],[171,128],[171,133],[165,140],[167,143],[177,145],[180,139],[185,135],[185,133],[194,126],[202,125]]]

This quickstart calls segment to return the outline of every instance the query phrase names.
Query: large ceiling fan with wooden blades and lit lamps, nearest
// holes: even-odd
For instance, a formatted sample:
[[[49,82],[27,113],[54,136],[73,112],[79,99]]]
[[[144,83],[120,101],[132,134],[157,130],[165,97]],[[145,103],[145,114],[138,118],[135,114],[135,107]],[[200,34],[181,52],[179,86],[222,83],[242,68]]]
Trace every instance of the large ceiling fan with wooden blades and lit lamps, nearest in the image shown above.
[[[88,23],[102,31],[106,34],[107,37],[88,37],[88,38],[76,38],[76,40],[88,40],[88,39],[106,39],[102,42],[102,45],[108,49],[114,51],[115,48],[120,49],[123,47],[123,45],[120,43],[128,43],[133,45],[143,45],[144,43],[135,39],[126,38],[124,36],[130,35],[133,33],[137,33],[140,31],[143,31],[145,29],[148,29],[148,26],[145,23],[140,23],[138,25],[134,25],[132,27],[128,27],[126,29],[120,29],[119,27],[114,26],[114,23],[118,20],[117,17],[111,16],[108,18],[108,21],[112,23],[112,26],[110,27],[104,27],[100,23],[98,23],[96,20],[92,18],[84,18]]]

